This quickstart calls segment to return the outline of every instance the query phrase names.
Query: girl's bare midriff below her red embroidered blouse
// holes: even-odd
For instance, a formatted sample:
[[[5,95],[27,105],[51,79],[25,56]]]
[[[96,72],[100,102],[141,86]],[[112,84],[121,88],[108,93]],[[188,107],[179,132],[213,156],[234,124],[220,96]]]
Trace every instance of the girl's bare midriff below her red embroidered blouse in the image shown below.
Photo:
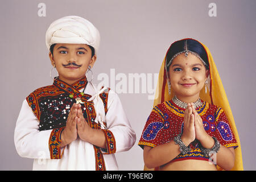
[[[206,160],[187,159],[169,162],[159,167],[160,171],[217,171],[214,164]]]

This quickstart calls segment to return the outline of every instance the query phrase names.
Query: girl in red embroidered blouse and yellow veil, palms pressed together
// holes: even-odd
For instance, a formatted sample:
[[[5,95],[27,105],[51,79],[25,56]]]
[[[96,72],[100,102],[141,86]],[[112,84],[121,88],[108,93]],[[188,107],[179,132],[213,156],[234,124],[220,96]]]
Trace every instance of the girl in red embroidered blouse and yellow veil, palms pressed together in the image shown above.
[[[139,146],[146,169],[243,169],[224,88],[209,49],[197,40],[168,49]]]

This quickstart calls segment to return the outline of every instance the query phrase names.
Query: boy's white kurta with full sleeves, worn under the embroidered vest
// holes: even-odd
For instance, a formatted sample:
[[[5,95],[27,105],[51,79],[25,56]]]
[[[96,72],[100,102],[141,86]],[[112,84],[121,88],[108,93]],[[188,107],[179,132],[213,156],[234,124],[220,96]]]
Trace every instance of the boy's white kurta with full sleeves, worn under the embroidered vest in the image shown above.
[[[80,90],[80,92],[82,89]],[[88,82],[84,93],[96,95],[95,87]],[[96,119],[106,122],[107,129],[112,131],[116,152],[130,150],[136,135],[126,117],[118,95],[110,89],[108,96],[108,112],[104,112],[103,102],[98,97],[92,97],[96,111]],[[101,115],[101,117],[99,117]],[[105,118],[104,118],[105,117]],[[36,118],[27,101],[24,100],[16,122],[14,142],[16,151],[23,158],[34,159],[33,170],[95,170],[93,145],[77,138],[68,144],[61,159],[51,159],[49,152],[49,137],[52,130],[39,131],[39,120]],[[118,170],[114,154],[104,154],[106,170]]]

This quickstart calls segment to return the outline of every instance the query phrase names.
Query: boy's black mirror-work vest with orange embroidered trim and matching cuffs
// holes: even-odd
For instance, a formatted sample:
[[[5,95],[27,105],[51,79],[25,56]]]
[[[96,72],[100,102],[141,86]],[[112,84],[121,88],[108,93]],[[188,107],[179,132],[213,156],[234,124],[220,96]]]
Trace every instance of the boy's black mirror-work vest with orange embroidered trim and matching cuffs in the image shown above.
[[[79,92],[79,90],[85,88],[87,83],[86,77],[81,78],[73,85],[68,85],[56,78],[52,85],[36,89],[26,98],[28,105],[39,120],[39,131],[52,130],[49,138],[51,159],[61,159],[61,131],[65,128],[69,111],[72,105],[76,103],[76,97],[80,97],[81,101],[84,102],[84,104],[81,104],[81,109],[89,126],[93,129],[101,129],[100,124],[95,122],[96,112],[93,101],[88,101],[92,96],[89,94],[81,95]],[[105,114],[108,112],[109,90],[108,88],[106,92],[100,94],[100,98],[104,103]],[[70,95],[73,98],[69,97]],[[104,122],[104,125],[106,126],[106,122]],[[114,136],[109,130],[102,131],[104,131],[106,137],[106,154],[113,154],[115,152]],[[100,147],[93,147],[96,157],[96,171],[103,171],[106,167]]]

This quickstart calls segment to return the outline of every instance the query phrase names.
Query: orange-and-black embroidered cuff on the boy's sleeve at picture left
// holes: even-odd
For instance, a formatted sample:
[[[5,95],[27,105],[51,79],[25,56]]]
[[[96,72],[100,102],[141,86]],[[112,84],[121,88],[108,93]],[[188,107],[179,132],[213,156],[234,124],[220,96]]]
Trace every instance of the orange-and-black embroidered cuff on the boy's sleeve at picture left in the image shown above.
[[[59,129],[53,129],[51,135],[49,137],[49,151],[51,155],[51,159],[61,159],[63,152],[60,151],[60,143],[61,143],[61,131],[64,127]]]

